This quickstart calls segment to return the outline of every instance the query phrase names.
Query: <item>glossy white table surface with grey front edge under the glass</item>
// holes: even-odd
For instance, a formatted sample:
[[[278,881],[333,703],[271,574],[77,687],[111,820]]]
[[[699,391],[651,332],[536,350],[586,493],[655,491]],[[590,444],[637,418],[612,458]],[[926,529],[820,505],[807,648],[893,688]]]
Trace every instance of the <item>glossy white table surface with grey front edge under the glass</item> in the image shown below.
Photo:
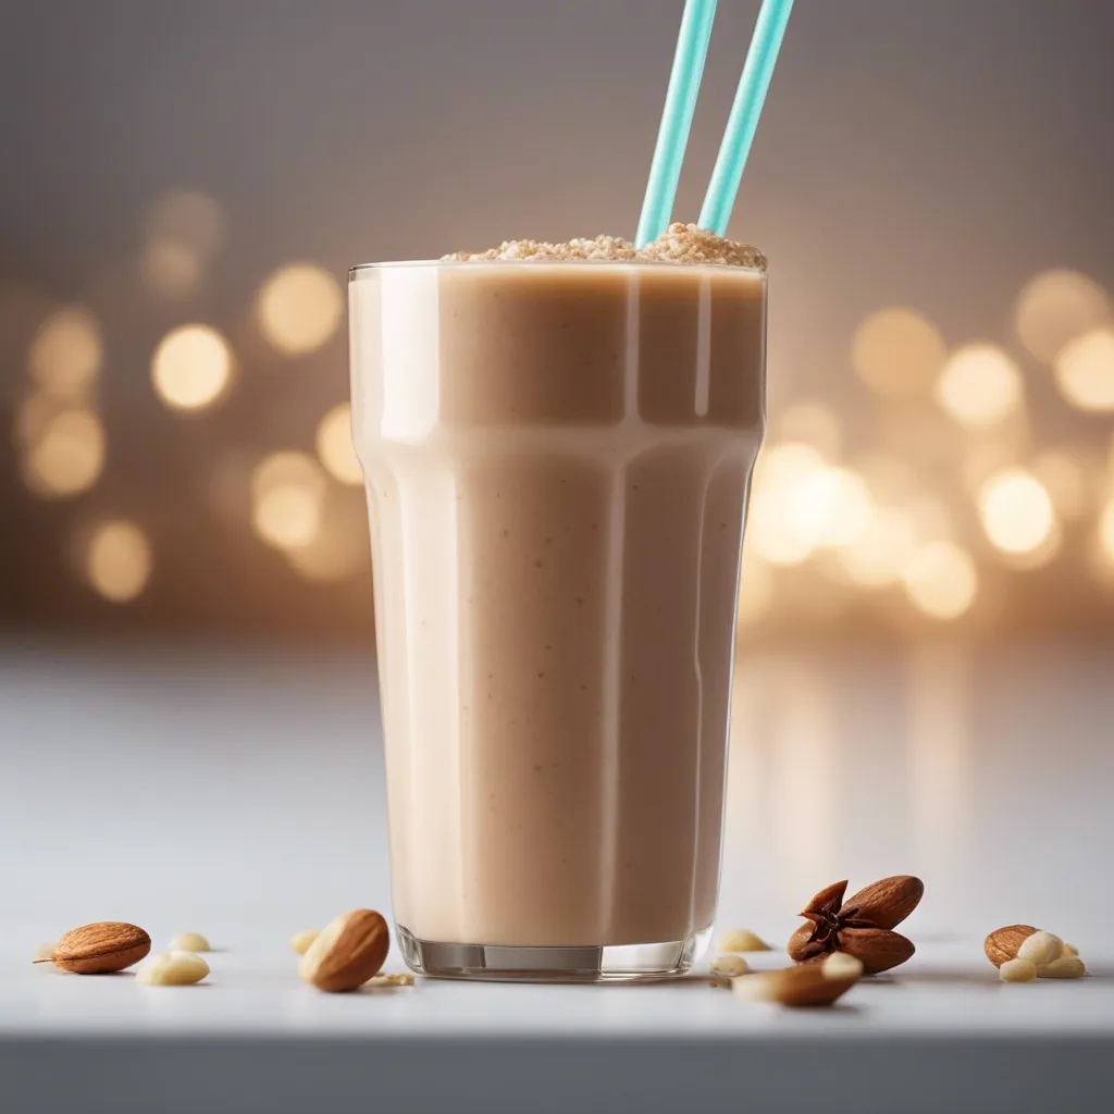
[[[701,979],[317,994],[290,936],[387,911],[373,664],[9,644],[0,1111],[1110,1110],[1112,665],[1064,645],[741,658],[721,925],[780,942],[838,877],[926,881],[913,959],[789,1012]],[[156,948],[204,932],[209,979],[28,962],[98,919]],[[1092,977],[999,983],[981,939],[1013,921]]]

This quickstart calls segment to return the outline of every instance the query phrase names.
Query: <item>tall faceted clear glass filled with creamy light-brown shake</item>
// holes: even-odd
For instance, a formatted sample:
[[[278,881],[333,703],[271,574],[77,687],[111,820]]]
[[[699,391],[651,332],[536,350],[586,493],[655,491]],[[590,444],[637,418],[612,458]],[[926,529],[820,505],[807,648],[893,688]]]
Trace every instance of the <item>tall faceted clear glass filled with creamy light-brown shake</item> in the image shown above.
[[[704,947],[765,287],[667,263],[352,270],[414,970],[639,978]]]

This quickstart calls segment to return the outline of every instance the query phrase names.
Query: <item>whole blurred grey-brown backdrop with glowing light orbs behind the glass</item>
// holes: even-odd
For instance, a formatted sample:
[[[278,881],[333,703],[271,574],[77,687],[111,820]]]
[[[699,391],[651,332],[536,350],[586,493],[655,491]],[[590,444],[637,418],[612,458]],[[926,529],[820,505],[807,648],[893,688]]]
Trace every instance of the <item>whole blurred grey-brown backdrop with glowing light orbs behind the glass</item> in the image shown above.
[[[629,236],[680,9],[0,4],[4,626],[369,641],[345,268]],[[1114,624],[1112,41],[1105,0],[799,6],[730,229],[772,261],[744,638]]]

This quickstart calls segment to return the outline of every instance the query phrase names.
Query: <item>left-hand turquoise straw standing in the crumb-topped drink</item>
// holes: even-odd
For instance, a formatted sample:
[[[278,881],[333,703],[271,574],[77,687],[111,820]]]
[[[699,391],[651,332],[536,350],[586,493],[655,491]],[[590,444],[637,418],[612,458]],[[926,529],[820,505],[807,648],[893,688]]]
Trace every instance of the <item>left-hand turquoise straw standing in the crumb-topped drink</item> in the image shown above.
[[[654,162],[649,167],[646,198],[642,203],[638,233],[635,246],[645,247],[652,240],[665,232],[673,213],[673,199],[677,195],[681,163],[688,143],[688,128],[696,108],[704,76],[704,59],[707,43],[712,38],[712,20],[715,19],[716,0],[685,0],[685,12],[681,17],[681,33],[677,50],[673,56],[670,88],[665,94],[662,125],[657,129],[657,146]]]

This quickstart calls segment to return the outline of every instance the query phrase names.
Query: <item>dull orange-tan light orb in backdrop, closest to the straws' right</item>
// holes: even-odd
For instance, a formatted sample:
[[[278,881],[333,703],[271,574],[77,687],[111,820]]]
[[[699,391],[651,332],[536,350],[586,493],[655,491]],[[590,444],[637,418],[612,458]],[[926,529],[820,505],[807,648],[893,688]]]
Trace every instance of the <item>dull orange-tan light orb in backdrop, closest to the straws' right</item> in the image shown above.
[[[851,365],[870,390],[891,398],[927,391],[947,348],[928,317],[907,306],[872,313],[856,330]]]

